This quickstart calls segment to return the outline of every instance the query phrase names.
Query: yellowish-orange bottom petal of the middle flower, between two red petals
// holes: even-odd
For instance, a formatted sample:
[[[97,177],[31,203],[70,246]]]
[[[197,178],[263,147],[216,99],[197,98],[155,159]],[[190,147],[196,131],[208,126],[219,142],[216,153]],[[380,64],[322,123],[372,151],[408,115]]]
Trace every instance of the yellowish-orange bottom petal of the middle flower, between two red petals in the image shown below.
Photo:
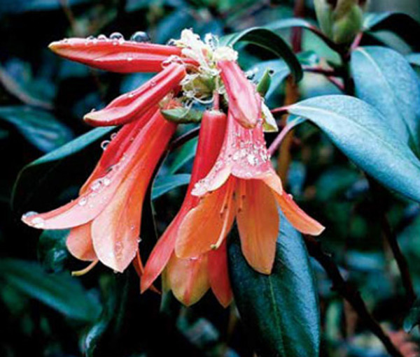
[[[187,259],[172,255],[165,278],[172,293],[181,303],[186,306],[197,303],[210,287],[207,255]]]

